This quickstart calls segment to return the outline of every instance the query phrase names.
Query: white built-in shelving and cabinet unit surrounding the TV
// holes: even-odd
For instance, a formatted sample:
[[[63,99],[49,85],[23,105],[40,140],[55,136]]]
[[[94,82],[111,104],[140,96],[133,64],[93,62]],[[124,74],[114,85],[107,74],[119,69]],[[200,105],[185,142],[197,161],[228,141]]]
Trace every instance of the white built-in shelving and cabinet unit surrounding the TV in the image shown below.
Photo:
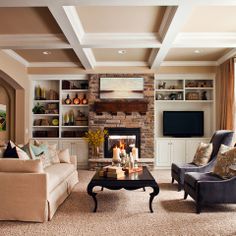
[[[203,92],[206,92],[205,97]],[[172,162],[192,161],[199,143],[208,142],[215,131],[215,75],[156,75],[155,98],[156,167],[170,168]],[[163,136],[163,111],[203,111],[204,136],[194,138]]]

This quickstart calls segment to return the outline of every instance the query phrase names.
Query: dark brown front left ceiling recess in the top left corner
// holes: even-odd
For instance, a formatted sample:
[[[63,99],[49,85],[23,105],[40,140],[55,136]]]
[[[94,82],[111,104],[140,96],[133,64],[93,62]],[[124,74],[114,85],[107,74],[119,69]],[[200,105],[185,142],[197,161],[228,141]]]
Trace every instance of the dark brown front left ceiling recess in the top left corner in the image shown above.
[[[62,33],[47,7],[1,7],[0,34]]]

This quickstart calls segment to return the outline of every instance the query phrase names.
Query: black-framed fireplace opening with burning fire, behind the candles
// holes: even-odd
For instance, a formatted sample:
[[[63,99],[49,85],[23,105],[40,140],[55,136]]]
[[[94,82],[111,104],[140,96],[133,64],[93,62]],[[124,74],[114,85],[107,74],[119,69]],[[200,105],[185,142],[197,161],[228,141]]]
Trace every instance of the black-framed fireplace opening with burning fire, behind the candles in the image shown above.
[[[108,136],[104,142],[104,157],[112,158],[113,148],[118,147],[130,153],[133,147],[139,149],[140,155],[140,128],[106,128]],[[139,156],[140,157],[140,156]]]

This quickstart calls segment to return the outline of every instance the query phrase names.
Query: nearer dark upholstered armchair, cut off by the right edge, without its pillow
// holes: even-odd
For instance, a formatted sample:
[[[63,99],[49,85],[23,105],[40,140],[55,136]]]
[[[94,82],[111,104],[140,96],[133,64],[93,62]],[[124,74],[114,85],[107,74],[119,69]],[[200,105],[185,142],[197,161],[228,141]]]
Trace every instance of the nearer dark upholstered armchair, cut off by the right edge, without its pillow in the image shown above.
[[[236,203],[236,176],[231,179],[208,173],[190,172],[184,178],[184,199],[190,195],[196,201],[196,212],[205,204]]]

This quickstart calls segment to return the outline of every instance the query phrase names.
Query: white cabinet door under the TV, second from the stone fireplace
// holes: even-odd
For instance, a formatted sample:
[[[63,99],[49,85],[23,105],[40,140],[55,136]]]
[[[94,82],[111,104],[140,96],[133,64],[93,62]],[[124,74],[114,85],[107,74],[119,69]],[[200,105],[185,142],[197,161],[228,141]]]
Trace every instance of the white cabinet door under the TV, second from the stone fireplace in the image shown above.
[[[171,140],[171,162],[185,163],[185,140]]]

